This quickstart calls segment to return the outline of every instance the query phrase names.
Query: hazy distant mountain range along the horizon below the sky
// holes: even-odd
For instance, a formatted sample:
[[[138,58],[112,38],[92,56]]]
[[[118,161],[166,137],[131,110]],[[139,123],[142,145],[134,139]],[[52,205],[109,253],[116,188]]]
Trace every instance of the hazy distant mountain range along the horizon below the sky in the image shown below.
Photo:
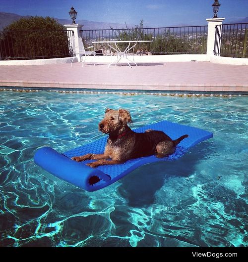
[[[22,16],[22,15],[18,15],[18,14],[14,14],[14,13],[4,13],[4,12],[0,12],[0,31],[6,27],[7,25],[11,24],[14,20],[18,20],[21,17],[30,17],[30,15],[26,15],[26,16]],[[59,19],[59,18],[55,18],[60,24],[64,25],[64,24],[70,24],[71,20],[70,19]],[[87,30],[87,29],[110,29],[115,28],[115,29],[122,29],[122,28],[126,28],[125,24],[120,24],[120,23],[107,23],[107,22],[95,22],[95,21],[88,21],[88,20],[76,20],[76,23],[84,25],[83,29]],[[248,23],[248,17],[239,19],[239,20],[231,20],[231,19],[226,19],[224,21],[224,23]],[[206,24],[205,22],[202,23]],[[168,25],[164,25],[165,27],[168,27]],[[177,25],[170,25],[170,27],[172,26],[191,26],[189,24],[177,24]],[[132,28],[134,27],[134,25],[127,25],[128,28]],[[146,26],[147,28],[149,26]]]

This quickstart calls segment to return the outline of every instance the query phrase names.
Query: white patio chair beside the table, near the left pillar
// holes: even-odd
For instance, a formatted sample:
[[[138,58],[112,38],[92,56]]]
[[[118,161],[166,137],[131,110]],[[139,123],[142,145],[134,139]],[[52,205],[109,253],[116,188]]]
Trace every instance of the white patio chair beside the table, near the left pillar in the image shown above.
[[[82,67],[83,67],[83,64],[84,64],[84,62],[86,60],[86,55],[94,55],[93,63],[94,63],[94,66],[95,66],[95,55],[96,55],[96,52],[94,50],[94,46],[93,45],[89,46],[89,47],[84,47],[83,40],[82,40],[81,37],[71,37],[70,38],[70,43],[71,43],[72,51],[73,51],[73,59],[71,61],[70,66],[72,66],[72,62],[73,62],[74,58],[77,55],[79,55],[79,59],[81,59],[81,57],[82,57]],[[85,50],[85,49],[89,49],[89,48],[93,48],[94,51]]]

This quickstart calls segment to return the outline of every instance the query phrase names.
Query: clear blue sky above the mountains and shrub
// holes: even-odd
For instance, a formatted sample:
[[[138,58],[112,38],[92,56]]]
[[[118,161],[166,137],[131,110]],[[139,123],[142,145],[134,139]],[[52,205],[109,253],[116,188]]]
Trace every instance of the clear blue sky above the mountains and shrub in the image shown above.
[[[213,17],[214,0],[0,0],[0,11],[68,19],[73,6],[78,19],[98,22],[170,26],[203,25]],[[248,0],[219,0],[218,17],[233,21],[248,16]]]

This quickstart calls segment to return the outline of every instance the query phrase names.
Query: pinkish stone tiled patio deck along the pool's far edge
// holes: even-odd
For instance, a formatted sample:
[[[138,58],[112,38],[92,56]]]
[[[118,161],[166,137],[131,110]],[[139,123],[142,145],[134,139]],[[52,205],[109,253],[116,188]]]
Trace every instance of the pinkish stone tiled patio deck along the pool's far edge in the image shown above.
[[[135,90],[248,91],[248,66],[210,62],[0,66],[0,86]]]

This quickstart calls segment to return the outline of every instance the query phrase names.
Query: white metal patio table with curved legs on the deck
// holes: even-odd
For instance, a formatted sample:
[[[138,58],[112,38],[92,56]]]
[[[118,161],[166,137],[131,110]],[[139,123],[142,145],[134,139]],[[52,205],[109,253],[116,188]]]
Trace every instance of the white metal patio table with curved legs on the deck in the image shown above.
[[[129,67],[131,67],[130,63],[134,63],[136,66],[137,64],[134,62],[134,56],[132,55],[132,60],[128,59],[127,56],[129,54],[129,51],[131,49],[134,49],[134,47],[136,46],[137,43],[150,43],[153,42],[152,40],[135,40],[135,41],[97,41],[97,42],[92,42],[92,44],[108,44],[108,46],[110,47],[111,50],[111,55],[112,55],[112,49],[115,50],[117,52],[117,59],[113,62],[111,62],[109,66],[111,66],[112,64],[118,64],[120,62],[120,60],[123,58],[126,59],[126,63],[129,65]],[[127,47],[125,48],[124,51],[122,51],[120,49],[120,46],[118,46],[118,44],[121,43],[127,43]]]

